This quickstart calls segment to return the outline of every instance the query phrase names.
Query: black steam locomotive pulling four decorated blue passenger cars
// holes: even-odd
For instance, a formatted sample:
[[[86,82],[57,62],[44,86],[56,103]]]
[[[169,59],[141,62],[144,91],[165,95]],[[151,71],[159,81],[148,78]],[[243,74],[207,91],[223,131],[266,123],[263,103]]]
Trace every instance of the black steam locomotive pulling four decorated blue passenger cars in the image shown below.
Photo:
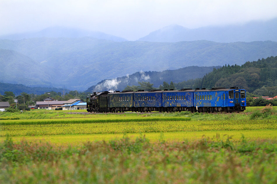
[[[243,112],[246,90],[238,87],[181,90],[94,92],[86,99],[87,112]]]

